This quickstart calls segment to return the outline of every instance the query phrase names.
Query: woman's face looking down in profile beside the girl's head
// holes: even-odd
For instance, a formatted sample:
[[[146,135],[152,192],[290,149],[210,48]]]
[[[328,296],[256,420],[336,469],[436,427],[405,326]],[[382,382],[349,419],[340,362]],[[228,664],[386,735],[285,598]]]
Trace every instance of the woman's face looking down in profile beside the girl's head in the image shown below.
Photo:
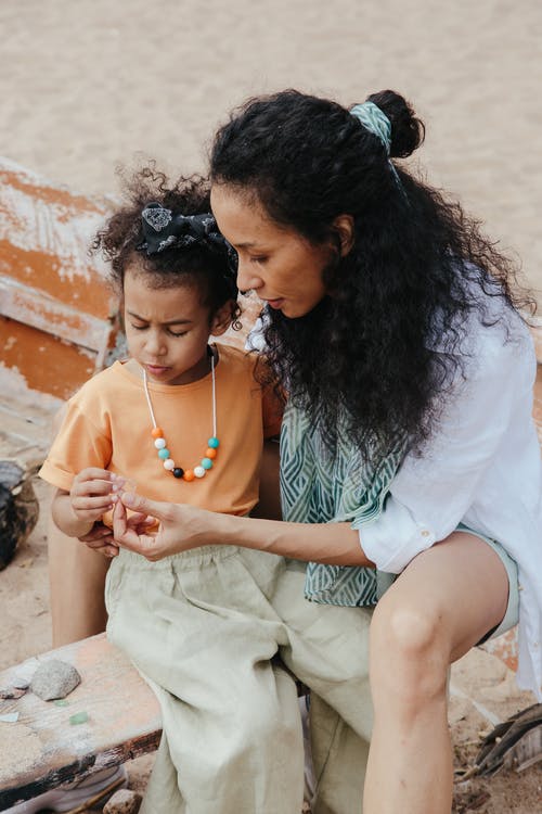
[[[285,317],[311,311],[326,293],[323,271],[333,246],[314,245],[280,226],[256,198],[228,185],[215,185],[210,201],[220,231],[238,255],[240,291],[255,291]]]

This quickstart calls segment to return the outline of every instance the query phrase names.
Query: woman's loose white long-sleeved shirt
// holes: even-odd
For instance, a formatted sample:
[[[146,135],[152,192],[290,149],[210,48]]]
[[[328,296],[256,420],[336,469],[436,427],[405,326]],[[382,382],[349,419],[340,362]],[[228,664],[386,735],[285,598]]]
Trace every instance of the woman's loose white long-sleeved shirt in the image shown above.
[[[405,457],[385,509],[360,531],[380,571],[401,572],[460,522],[498,540],[519,570],[517,682],[542,700],[542,462],[532,419],[537,360],[519,316],[501,298],[491,327],[467,319],[464,374],[435,435]],[[506,328],[508,336],[506,336]],[[438,349],[438,348],[437,348]]]

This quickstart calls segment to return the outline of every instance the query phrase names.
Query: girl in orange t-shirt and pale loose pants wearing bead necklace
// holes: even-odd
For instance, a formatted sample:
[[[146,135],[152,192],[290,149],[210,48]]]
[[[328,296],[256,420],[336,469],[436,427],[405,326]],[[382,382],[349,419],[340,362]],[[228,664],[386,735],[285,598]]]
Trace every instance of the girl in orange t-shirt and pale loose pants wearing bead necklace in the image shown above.
[[[208,188],[197,179],[168,188],[164,176],[145,170],[129,191],[95,249],[121,292],[130,359],[70,399],[41,470],[57,487],[54,521],[74,537],[92,535],[104,517],[111,522],[107,513],[128,481],[152,499],[248,514],[258,499],[263,440],[281,423],[273,389],[254,376],[262,363],[209,344],[209,335],[237,326],[240,309],[235,258],[209,214]],[[132,527],[142,522],[134,516]],[[366,627],[347,609],[335,609],[331,627],[320,625],[326,609],[307,614],[302,573],[285,590],[283,558],[219,543],[157,563],[121,550],[107,575],[108,637],[144,675],[163,712],[142,811],[298,814],[304,762],[296,685],[274,657],[282,647],[310,662],[298,634],[301,614],[314,639],[331,638],[330,629],[350,618],[360,653]],[[117,554],[104,539],[100,548]],[[296,608],[294,627],[287,620]],[[332,665],[343,646],[338,636],[330,647]],[[313,662],[320,672],[321,662]],[[330,694],[336,672],[328,671]],[[363,684],[361,665],[357,675]],[[369,717],[370,710],[365,734]]]

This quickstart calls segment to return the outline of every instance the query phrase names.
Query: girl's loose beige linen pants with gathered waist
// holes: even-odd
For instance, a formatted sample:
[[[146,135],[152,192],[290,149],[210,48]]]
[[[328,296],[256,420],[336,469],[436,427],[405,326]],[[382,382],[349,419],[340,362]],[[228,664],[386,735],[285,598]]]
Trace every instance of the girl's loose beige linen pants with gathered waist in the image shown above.
[[[109,569],[107,635],[155,691],[164,733],[141,814],[299,814],[293,678],[312,690],[314,814],[358,814],[371,612],[304,598],[302,563],[233,546]]]

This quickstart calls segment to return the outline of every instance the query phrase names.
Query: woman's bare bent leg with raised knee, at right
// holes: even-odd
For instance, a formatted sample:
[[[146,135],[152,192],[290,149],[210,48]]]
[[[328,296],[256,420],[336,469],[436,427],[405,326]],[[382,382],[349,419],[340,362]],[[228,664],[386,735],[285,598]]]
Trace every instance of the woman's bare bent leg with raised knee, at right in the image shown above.
[[[505,614],[508,577],[479,537],[454,532],[418,555],[371,624],[374,729],[364,814],[450,814],[449,665]]]

